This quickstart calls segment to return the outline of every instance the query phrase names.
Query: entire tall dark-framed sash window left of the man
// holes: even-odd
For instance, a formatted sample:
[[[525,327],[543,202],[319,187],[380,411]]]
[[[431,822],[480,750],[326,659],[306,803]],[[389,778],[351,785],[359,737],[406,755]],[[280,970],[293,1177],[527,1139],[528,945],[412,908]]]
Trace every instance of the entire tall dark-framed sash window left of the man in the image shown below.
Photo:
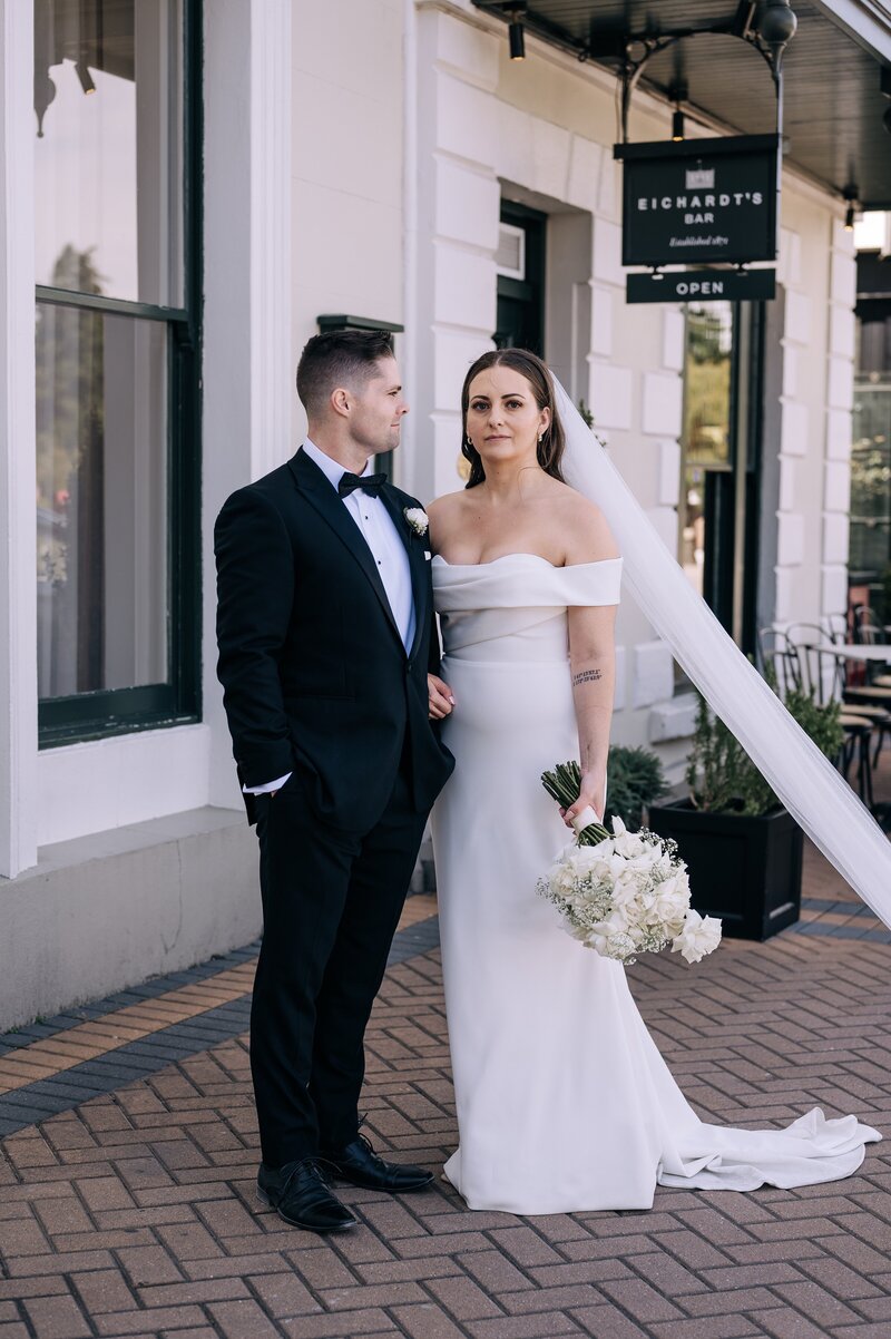
[[[35,0],[41,746],[197,719],[198,0]]]

